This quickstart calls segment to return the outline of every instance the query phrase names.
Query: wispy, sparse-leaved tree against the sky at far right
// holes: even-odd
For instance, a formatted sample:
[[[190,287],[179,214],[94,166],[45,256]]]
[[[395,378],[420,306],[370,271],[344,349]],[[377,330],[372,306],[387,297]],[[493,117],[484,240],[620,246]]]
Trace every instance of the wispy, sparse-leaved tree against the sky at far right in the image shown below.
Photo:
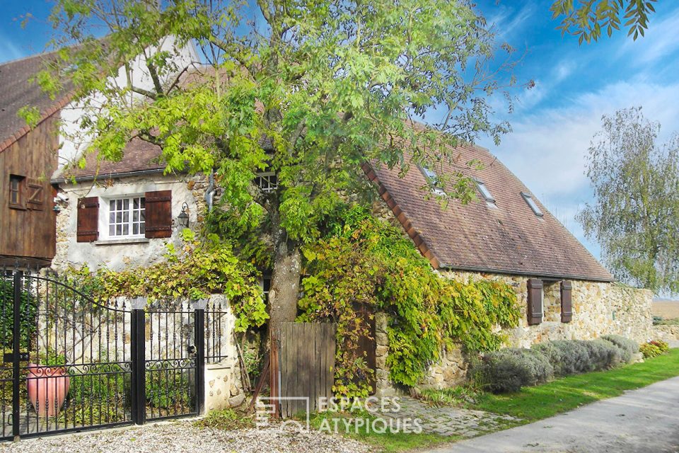
[[[641,108],[603,117],[589,149],[595,201],[578,214],[622,282],[679,292],[679,135],[656,143],[660,125]]]

